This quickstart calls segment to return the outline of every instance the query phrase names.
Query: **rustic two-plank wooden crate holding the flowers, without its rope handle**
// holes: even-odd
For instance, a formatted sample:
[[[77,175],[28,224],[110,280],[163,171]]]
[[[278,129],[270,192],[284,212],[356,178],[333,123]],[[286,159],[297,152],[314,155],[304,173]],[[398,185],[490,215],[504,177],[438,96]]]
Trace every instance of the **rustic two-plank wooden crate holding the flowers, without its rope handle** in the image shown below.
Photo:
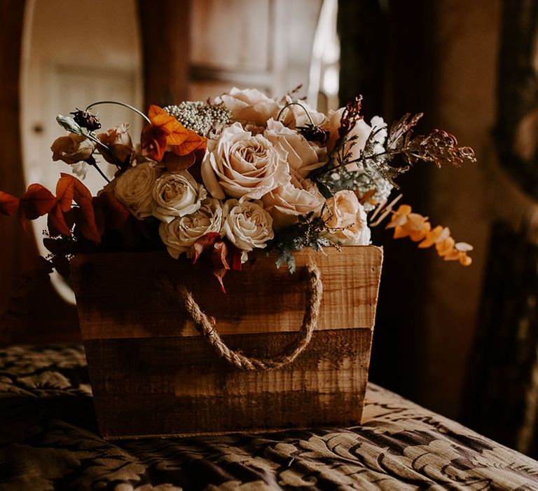
[[[291,275],[275,257],[251,254],[242,271],[214,278],[167,253],[79,255],[71,274],[105,438],[263,431],[361,422],[382,249],[296,255]],[[160,288],[184,283],[216,319],[229,347],[270,358],[297,335],[314,260],[324,293],[317,329],[296,360],[247,372],[218,358],[179,299]]]

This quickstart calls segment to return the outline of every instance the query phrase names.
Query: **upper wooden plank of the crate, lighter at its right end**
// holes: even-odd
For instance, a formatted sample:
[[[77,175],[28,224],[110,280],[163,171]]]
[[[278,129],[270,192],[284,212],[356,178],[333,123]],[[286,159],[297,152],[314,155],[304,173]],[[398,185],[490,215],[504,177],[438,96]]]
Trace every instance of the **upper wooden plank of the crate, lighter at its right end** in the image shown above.
[[[252,253],[242,271],[224,278],[221,292],[209,271],[167,253],[79,255],[71,260],[83,339],[198,336],[159,278],[184,283],[222,335],[297,331],[305,312],[305,265],[322,273],[318,330],[373,328],[382,249],[345,247],[298,253],[298,271],[275,267],[275,256]]]

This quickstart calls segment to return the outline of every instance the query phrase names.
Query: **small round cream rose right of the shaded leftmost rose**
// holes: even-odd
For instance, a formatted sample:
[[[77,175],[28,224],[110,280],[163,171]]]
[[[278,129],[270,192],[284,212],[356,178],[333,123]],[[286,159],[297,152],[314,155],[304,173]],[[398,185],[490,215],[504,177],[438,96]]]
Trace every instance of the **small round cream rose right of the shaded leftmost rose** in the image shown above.
[[[156,180],[152,192],[152,215],[162,222],[172,222],[174,217],[194,213],[207,196],[202,184],[198,184],[188,170],[164,173]]]

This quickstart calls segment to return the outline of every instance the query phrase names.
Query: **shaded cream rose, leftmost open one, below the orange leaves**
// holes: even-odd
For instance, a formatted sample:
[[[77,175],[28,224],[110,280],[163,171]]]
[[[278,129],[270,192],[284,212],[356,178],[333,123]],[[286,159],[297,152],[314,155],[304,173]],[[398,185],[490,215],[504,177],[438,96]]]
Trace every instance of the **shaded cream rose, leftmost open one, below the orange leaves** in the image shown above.
[[[111,189],[132,215],[142,220],[153,213],[153,186],[162,172],[153,161],[140,163],[116,177]]]

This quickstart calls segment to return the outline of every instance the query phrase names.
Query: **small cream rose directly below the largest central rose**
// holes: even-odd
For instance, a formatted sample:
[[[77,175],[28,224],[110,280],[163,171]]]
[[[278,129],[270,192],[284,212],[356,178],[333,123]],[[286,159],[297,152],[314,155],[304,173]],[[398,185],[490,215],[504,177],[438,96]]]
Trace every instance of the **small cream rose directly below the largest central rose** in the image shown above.
[[[224,203],[224,232],[235,247],[249,252],[254,248],[265,248],[273,234],[273,218],[261,203],[240,203],[229,199]]]

